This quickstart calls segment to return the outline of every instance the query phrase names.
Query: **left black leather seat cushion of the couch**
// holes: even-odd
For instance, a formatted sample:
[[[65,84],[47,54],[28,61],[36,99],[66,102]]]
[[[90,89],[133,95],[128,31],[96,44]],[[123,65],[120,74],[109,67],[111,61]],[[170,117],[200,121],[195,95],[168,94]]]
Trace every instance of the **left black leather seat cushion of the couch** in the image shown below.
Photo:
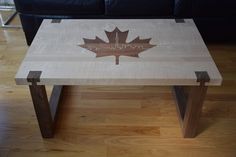
[[[14,0],[18,12],[50,15],[104,14],[104,0]]]

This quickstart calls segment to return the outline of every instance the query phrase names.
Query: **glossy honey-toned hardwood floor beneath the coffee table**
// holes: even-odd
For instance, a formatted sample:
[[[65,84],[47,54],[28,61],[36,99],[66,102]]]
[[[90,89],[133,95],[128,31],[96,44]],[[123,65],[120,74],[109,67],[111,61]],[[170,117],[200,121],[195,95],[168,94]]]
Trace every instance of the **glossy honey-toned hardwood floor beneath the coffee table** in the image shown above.
[[[182,138],[169,87],[81,86],[65,88],[55,138],[42,139],[28,87],[14,82],[23,32],[0,29],[0,157],[235,157],[236,44],[208,48],[224,82],[208,89],[196,138]]]

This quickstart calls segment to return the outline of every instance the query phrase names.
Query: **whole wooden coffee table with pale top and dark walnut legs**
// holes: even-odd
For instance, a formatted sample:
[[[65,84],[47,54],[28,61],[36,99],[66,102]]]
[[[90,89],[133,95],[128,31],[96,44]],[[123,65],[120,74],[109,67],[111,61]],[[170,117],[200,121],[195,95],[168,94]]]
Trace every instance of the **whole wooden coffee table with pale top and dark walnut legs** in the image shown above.
[[[191,138],[207,87],[222,77],[192,19],[53,19],[43,21],[15,80],[29,86],[44,138],[53,137],[64,85],[173,86]],[[50,101],[46,85],[54,85]]]

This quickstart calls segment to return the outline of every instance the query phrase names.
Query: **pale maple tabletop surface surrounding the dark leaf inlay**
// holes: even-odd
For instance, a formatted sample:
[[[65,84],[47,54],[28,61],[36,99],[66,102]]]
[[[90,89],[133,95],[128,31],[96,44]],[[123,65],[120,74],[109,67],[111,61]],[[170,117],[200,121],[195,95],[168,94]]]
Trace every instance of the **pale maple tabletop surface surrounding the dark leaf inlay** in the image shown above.
[[[156,45],[139,57],[96,58],[79,45],[84,38],[99,37],[108,43],[105,31],[129,31],[127,42],[136,37]],[[117,37],[119,34],[117,33]],[[118,52],[119,53],[119,50]],[[221,75],[193,20],[45,20],[16,75],[27,85],[29,71],[42,71],[39,84],[46,85],[198,85],[196,71],[210,76],[207,85],[220,85]]]

